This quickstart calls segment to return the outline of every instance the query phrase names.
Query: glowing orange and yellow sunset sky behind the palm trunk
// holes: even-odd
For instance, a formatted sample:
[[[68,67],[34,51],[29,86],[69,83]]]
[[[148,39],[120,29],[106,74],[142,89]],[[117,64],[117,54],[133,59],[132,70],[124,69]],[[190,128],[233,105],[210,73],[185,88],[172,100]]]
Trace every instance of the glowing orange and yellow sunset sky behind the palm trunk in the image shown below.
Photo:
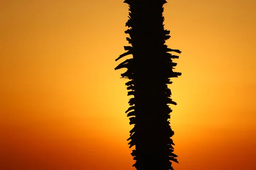
[[[256,170],[256,1],[168,0],[175,170]],[[0,0],[0,169],[135,170],[122,0]]]

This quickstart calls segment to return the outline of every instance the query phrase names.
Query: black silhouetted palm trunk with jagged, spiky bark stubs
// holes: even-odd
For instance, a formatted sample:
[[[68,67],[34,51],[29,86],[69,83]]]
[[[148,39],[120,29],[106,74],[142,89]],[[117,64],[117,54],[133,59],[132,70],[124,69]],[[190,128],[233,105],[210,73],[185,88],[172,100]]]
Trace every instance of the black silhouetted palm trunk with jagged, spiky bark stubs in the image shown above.
[[[129,54],[132,58],[121,62],[116,68],[127,68],[121,76],[128,78],[126,82],[130,108],[125,112],[130,117],[130,148],[135,146],[131,155],[136,160],[133,165],[137,170],[173,170],[172,161],[178,163],[173,153],[172,142],[174,132],[170,127],[168,104],[172,101],[172,84],[170,78],[181,73],[172,71],[177,63],[172,59],[179,58],[168,52],[181,53],[179,50],[167,48],[165,41],[170,38],[170,31],[164,29],[163,4],[166,0],[125,0],[129,5],[129,20],[125,31],[130,37],[126,40],[132,46],[124,46],[125,52],[117,59]]]

